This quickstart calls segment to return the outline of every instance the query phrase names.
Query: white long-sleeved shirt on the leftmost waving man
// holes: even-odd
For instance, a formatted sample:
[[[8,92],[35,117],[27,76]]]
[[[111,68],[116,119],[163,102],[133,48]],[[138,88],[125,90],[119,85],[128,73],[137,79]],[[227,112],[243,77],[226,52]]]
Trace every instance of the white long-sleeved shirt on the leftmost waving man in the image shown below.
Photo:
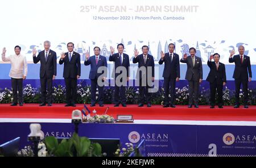
[[[19,54],[10,55],[9,57],[5,57],[5,54],[2,54],[3,61],[11,62],[11,70],[9,73],[9,77],[20,79],[23,76],[27,76],[27,60],[25,56]]]

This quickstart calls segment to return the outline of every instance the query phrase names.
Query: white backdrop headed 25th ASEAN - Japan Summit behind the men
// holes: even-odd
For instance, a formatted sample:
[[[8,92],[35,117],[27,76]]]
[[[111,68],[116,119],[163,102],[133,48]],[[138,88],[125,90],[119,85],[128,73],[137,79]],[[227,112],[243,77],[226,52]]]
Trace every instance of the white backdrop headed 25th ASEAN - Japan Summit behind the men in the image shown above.
[[[116,47],[121,42],[131,57],[135,47],[149,43],[158,60],[159,51],[167,50],[166,44],[175,43],[176,53],[181,55],[198,43],[197,54],[203,60],[218,52],[228,64],[229,50],[237,51],[243,44],[251,64],[256,64],[255,6],[256,1],[249,0],[9,0],[0,6],[0,47],[12,54],[14,46],[21,45],[22,53],[32,61],[31,49],[43,49],[44,40],[51,41],[58,56],[72,41],[81,57],[86,50],[93,54],[95,46],[108,56],[110,45]],[[147,19],[151,16],[160,19]],[[118,19],[105,20],[109,17]]]

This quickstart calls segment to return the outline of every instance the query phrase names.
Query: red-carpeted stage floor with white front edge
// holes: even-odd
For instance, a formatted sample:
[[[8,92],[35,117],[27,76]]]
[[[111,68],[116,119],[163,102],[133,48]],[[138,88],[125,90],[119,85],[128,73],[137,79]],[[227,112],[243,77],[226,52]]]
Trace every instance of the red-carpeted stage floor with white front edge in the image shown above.
[[[0,122],[71,122],[72,110],[82,110],[84,104],[77,104],[77,107],[64,107],[65,104],[52,104],[53,106],[39,107],[39,104],[24,104],[23,107],[10,104],[0,104]],[[220,109],[216,106],[210,109],[209,106],[199,108],[187,108],[187,106],[176,106],[176,108],[163,108],[160,105],[152,107],[138,107],[137,104],[128,104],[127,107],[113,107],[113,104],[105,104],[104,107],[86,106],[91,111],[95,109],[96,114],[104,114],[107,107],[108,115],[114,118],[117,115],[133,115],[137,124],[193,124],[193,125],[256,125],[256,106],[249,106],[248,109],[234,109],[232,106],[224,106]]]

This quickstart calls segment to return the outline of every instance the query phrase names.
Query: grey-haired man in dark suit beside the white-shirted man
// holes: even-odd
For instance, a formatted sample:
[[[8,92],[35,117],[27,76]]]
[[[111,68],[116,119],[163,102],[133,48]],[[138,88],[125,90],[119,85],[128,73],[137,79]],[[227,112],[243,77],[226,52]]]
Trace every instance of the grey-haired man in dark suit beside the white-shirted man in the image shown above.
[[[34,48],[33,61],[38,63],[40,61],[40,83],[41,83],[41,99],[42,103],[39,106],[46,106],[46,99],[48,106],[52,106],[52,81],[57,73],[57,56],[56,52],[49,49],[51,47],[50,41],[44,41],[44,50],[38,53],[36,57],[36,49]],[[46,96],[46,87],[48,94]]]

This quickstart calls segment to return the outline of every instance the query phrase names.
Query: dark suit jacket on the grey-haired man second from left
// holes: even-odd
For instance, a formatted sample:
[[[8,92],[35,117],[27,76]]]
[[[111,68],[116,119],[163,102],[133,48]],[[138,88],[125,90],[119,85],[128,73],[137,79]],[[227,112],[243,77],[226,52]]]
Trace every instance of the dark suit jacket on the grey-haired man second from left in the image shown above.
[[[57,75],[57,56],[56,52],[49,50],[48,57],[44,55],[44,50],[38,53],[38,56],[33,57],[34,63],[40,61],[40,78],[43,78],[46,75],[47,78],[52,78],[53,75]]]

